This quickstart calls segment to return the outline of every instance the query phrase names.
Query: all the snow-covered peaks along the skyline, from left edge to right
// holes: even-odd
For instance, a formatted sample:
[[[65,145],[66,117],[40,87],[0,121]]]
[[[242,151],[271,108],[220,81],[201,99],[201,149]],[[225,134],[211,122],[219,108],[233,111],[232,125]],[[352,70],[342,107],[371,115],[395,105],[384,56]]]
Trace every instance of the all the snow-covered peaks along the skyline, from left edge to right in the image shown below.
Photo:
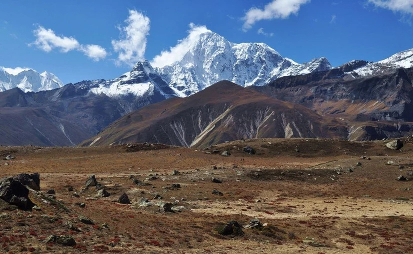
[[[413,49],[396,53],[378,62],[350,61],[347,78],[366,77],[394,69],[413,66]],[[91,93],[109,97],[156,97],[159,101],[172,96],[185,97],[221,80],[242,86],[262,86],[282,76],[302,75],[332,69],[325,57],[297,63],[282,57],[265,43],[233,43],[223,36],[207,31],[199,35],[183,57],[163,67],[153,67],[148,60],[111,80],[79,82],[88,85]],[[21,69],[18,73],[0,67],[0,91],[19,87],[23,91],[41,91],[62,87],[54,74]]]

